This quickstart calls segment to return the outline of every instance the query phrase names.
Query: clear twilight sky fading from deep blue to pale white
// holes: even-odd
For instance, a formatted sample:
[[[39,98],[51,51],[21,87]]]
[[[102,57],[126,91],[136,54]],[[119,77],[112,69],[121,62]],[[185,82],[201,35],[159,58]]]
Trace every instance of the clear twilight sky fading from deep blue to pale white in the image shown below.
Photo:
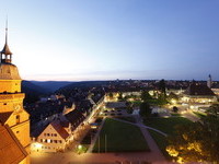
[[[0,0],[25,80],[219,80],[218,0]]]

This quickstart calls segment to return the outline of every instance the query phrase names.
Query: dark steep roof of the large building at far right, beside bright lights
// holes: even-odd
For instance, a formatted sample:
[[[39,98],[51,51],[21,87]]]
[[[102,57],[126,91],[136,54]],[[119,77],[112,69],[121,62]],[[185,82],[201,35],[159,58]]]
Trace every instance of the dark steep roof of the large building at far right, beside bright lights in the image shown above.
[[[215,96],[215,93],[207,86],[203,84],[196,84],[193,82],[185,91],[187,95],[201,95],[201,96]]]

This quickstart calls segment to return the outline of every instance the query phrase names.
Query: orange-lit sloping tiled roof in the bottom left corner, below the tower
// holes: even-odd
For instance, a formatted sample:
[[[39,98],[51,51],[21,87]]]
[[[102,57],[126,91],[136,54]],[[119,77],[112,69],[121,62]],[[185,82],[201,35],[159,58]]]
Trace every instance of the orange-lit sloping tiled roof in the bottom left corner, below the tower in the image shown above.
[[[14,133],[0,124],[0,161],[2,164],[18,164],[27,156]]]

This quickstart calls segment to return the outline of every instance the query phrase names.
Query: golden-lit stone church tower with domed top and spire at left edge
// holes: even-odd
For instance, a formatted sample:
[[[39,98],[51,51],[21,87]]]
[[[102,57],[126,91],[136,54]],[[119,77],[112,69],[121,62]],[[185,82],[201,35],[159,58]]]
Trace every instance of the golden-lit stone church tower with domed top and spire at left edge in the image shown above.
[[[5,44],[0,51],[0,125],[8,126],[26,152],[19,164],[30,164],[30,118],[23,108],[24,93],[21,92],[19,70],[12,63],[12,52],[8,46],[8,25]],[[10,147],[9,147],[10,148]],[[14,153],[14,152],[12,152]]]

